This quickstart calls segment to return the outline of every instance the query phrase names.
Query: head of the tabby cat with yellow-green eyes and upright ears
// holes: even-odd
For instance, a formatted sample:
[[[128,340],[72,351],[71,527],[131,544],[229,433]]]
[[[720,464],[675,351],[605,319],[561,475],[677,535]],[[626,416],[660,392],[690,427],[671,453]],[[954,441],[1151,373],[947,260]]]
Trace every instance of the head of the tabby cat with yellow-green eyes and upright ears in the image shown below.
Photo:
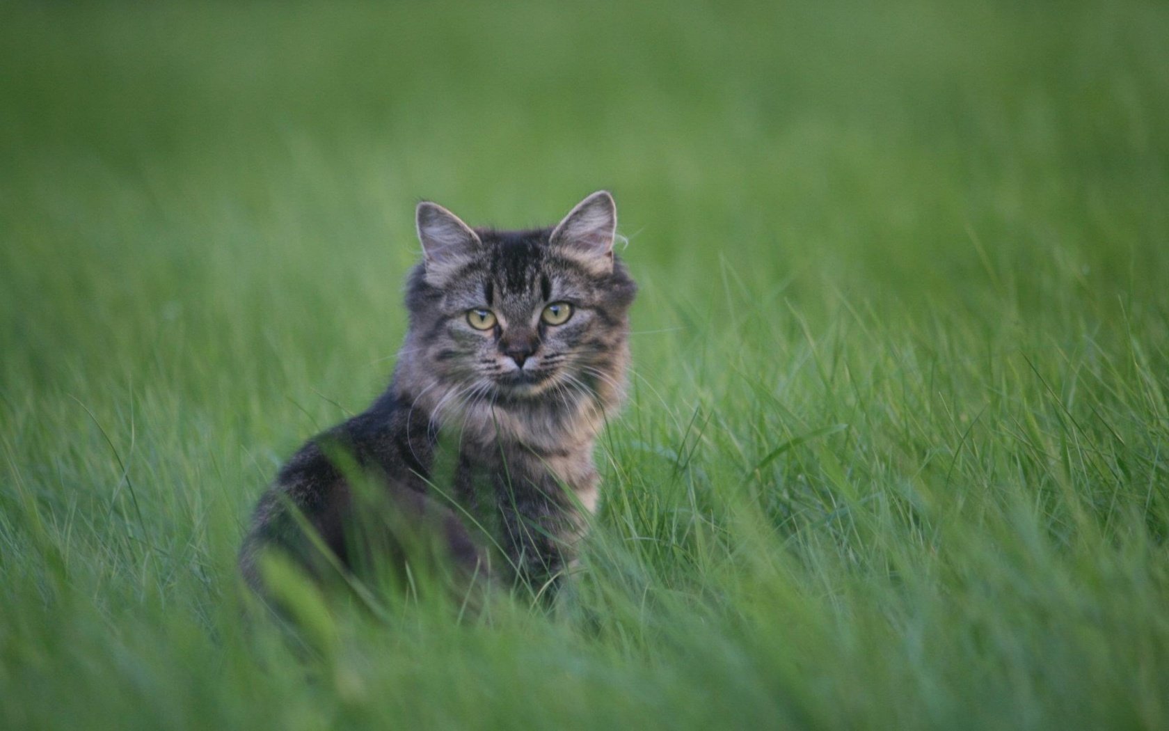
[[[620,398],[637,287],[613,251],[616,226],[604,191],[555,227],[519,232],[420,204],[424,256],[407,295],[415,366],[464,402]]]

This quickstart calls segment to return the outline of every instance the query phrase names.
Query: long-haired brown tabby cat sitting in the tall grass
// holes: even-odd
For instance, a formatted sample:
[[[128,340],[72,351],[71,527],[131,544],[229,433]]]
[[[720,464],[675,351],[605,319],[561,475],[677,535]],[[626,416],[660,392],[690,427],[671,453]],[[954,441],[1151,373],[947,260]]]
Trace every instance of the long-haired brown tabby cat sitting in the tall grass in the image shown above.
[[[241,550],[247,581],[264,586],[269,553],[317,577],[408,560],[409,537],[464,574],[490,565],[551,595],[596,506],[593,447],[625,385],[637,287],[613,251],[616,220],[604,191],[519,232],[420,204],[393,380],[281,469]]]

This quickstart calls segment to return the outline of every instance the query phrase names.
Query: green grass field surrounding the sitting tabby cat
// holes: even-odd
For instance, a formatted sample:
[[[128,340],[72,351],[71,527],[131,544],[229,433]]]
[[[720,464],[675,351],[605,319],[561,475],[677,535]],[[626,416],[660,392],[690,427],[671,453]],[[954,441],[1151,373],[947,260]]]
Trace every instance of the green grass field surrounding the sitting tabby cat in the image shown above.
[[[0,5],[0,727],[1169,727],[1169,6]],[[414,204],[616,196],[574,591],[242,618]]]

